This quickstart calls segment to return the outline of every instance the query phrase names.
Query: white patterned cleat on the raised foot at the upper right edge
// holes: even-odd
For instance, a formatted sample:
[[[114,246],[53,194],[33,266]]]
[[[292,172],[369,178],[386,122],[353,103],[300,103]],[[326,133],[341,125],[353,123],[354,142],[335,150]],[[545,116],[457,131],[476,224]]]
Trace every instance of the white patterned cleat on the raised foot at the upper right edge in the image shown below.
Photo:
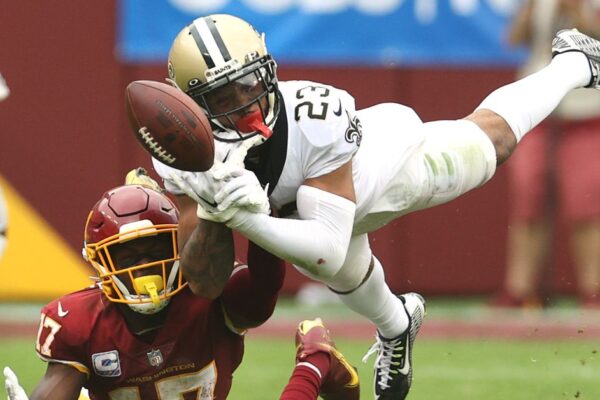
[[[585,87],[600,89],[600,41],[577,29],[563,29],[552,41],[552,57],[571,51],[583,53],[588,59],[592,78]]]

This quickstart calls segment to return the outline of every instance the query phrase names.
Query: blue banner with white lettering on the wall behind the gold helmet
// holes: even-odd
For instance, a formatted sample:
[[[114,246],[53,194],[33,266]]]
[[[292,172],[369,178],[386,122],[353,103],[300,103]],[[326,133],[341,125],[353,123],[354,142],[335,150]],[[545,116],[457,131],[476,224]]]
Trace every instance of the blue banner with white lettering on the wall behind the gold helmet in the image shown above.
[[[279,62],[362,65],[511,65],[505,44],[519,0],[121,0],[124,62],[164,63],[195,18],[233,14],[266,33]]]

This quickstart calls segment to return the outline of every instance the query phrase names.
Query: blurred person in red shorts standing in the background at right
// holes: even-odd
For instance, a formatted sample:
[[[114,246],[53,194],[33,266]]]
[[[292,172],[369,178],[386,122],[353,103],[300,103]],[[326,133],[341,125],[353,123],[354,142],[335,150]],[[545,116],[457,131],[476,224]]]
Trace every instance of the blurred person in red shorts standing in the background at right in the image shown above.
[[[548,43],[560,29],[600,35],[600,1],[528,0],[510,29],[512,45],[531,52],[526,76],[551,58]],[[568,223],[582,306],[600,306],[600,92],[574,90],[535,128],[508,163],[510,228],[503,291],[492,304],[547,305],[556,203]],[[556,194],[554,193],[556,190]],[[555,199],[558,200],[555,202]]]

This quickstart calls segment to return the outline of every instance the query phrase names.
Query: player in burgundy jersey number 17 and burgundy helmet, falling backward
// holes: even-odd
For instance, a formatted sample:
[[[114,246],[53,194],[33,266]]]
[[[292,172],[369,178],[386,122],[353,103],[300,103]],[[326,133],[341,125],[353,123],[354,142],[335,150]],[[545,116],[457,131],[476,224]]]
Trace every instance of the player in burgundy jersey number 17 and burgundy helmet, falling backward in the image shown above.
[[[91,399],[227,397],[243,333],[271,315],[284,265],[253,244],[248,265],[234,263],[231,231],[207,221],[195,231],[205,251],[195,254],[188,279],[211,279],[222,289],[196,296],[180,268],[178,218],[168,197],[145,186],[103,194],[88,216],[83,250],[99,282],[43,307],[36,351],[48,367],[31,399],[76,399],[83,387]],[[225,272],[213,274],[217,267]],[[300,347],[314,360],[299,356],[282,398],[316,399],[321,384],[347,390],[351,378],[357,395],[356,374],[341,363],[322,324],[302,335],[309,328],[320,336]],[[5,375],[9,399],[27,399],[12,371]],[[311,383],[317,392],[306,397]]]

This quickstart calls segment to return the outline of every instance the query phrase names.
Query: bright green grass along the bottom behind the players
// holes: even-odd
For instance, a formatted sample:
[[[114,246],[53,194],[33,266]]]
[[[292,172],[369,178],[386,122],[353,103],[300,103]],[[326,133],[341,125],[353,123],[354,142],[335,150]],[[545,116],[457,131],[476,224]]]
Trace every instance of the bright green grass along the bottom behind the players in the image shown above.
[[[372,399],[373,360],[361,362],[370,343],[338,340],[337,344],[359,369],[362,399]],[[420,339],[409,399],[600,399],[596,349],[596,342],[590,341]],[[250,334],[230,398],[276,399],[292,371],[293,357],[292,333],[287,339],[258,339]],[[32,339],[0,340],[0,364],[10,365],[28,392],[45,369]]]

